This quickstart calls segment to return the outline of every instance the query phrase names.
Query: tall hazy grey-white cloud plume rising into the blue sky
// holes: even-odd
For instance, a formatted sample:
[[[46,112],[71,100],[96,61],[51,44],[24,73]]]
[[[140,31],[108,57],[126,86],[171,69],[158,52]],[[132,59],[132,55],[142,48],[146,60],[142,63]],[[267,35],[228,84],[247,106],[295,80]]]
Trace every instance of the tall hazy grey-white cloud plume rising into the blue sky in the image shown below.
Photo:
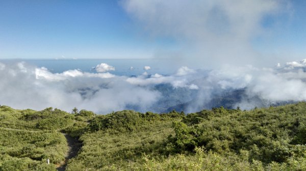
[[[273,17],[284,12],[289,2],[121,0],[121,4],[150,36],[179,42],[174,54],[180,55],[175,55],[175,60],[185,65],[217,68],[220,64],[239,66],[269,61],[254,50],[252,41],[269,35],[262,20],[267,15]],[[273,19],[276,21],[277,17]],[[171,52],[162,49],[156,53],[163,58],[163,55],[169,57]]]

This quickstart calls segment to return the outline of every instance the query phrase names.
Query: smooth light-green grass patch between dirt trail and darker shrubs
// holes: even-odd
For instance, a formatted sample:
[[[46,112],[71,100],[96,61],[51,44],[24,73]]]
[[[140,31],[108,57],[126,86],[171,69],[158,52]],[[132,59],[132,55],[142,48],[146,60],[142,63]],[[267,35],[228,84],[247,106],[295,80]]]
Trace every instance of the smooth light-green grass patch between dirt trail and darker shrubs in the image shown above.
[[[68,170],[104,168],[116,165],[137,165],[142,153],[161,153],[165,140],[173,134],[172,121],[156,121],[137,126],[133,131],[101,130],[81,136],[84,146],[77,158],[68,163]]]

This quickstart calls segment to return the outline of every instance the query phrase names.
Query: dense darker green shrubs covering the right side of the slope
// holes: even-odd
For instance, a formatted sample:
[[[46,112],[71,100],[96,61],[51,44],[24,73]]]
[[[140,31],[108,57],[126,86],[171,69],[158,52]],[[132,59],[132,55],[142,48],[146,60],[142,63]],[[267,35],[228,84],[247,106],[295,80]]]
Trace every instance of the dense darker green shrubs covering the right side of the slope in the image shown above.
[[[223,107],[202,110],[184,118],[187,125],[173,125],[174,144],[181,151],[192,151],[190,147],[198,145],[221,155],[245,150],[249,161],[287,162],[304,157],[305,110],[305,103],[244,112]]]

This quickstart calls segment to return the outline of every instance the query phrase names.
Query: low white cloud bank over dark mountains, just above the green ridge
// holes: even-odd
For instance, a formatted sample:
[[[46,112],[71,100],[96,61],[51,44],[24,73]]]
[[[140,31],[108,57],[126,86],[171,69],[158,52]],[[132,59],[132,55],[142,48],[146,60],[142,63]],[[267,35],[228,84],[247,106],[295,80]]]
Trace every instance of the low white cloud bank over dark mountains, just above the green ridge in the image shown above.
[[[250,109],[306,100],[304,61],[284,67],[181,67],[176,73],[118,76],[68,70],[52,73],[24,62],[0,63],[0,104],[14,108],[73,107],[100,114],[122,109],[186,112],[225,106]]]

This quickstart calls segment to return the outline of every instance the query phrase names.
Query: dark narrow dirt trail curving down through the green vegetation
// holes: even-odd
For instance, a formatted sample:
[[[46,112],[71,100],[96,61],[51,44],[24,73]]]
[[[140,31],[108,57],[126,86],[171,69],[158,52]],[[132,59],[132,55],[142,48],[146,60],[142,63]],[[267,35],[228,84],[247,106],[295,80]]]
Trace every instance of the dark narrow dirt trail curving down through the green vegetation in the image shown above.
[[[62,162],[59,167],[57,167],[58,171],[64,171],[66,169],[66,166],[67,166],[67,161],[69,159],[77,156],[78,152],[80,151],[80,149],[82,147],[82,143],[77,138],[73,138],[66,133],[62,133],[62,134],[67,139],[69,149],[68,149],[67,155],[65,156],[65,161]]]

